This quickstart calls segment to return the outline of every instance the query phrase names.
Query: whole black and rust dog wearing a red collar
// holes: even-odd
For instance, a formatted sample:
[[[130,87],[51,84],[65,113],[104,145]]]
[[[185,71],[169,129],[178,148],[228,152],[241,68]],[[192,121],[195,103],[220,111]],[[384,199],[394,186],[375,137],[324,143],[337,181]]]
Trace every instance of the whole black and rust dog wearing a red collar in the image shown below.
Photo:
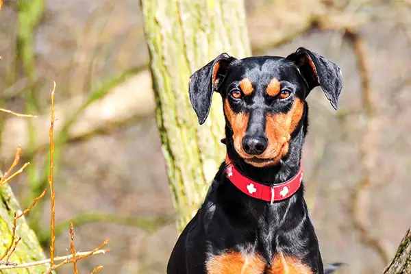
[[[331,273],[303,199],[310,91],[337,109],[340,68],[299,48],[286,58],[219,55],[190,77],[199,123],[223,98],[227,157],[171,253],[169,274]]]

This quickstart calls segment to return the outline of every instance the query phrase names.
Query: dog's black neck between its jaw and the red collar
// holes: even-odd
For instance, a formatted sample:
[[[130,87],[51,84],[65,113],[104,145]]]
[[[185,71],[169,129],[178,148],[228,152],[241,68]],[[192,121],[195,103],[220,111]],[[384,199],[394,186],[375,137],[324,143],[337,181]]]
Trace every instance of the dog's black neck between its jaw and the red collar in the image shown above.
[[[253,181],[266,185],[281,184],[295,176],[300,169],[301,151],[308,127],[308,106],[307,104],[305,105],[306,108],[304,110],[303,118],[295,129],[295,132],[291,134],[291,139],[288,143],[289,148],[287,155],[273,166],[256,167],[251,164],[247,164],[242,158],[240,158],[234,149],[232,131],[226,125],[225,145],[227,146],[227,154],[234,163],[234,166],[236,166],[236,169]]]

